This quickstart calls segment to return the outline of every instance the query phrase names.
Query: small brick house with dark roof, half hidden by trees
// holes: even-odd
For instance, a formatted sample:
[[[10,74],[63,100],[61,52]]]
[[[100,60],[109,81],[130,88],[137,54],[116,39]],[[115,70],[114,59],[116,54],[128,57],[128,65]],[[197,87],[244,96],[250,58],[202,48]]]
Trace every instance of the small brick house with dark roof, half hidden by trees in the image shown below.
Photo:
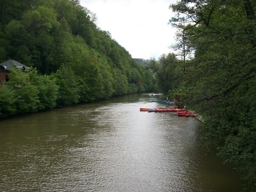
[[[15,60],[8,60],[0,64],[0,84],[2,84],[3,81],[9,81],[8,74],[10,73],[10,69],[15,67],[22,71],[27,68],[25,65]]]

